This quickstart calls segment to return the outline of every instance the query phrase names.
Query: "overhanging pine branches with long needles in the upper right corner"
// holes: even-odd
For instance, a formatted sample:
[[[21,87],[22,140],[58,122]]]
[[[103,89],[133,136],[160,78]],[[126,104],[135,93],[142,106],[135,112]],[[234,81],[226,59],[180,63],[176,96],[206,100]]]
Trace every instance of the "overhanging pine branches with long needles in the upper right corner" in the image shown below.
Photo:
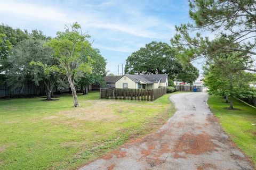
[[[221,53],[236,52],[235,55],[254,56],[256,14],[253,0],[191,0],[189,1],[189,15],[194,23],[181,24],[176,27],[178,33],[171,40],[173,46],[178,47],[182,61],[222,55]],[[217,38],[209,40],[195,31],[208,31]],[[244,70],[255,71],[250,67]]]

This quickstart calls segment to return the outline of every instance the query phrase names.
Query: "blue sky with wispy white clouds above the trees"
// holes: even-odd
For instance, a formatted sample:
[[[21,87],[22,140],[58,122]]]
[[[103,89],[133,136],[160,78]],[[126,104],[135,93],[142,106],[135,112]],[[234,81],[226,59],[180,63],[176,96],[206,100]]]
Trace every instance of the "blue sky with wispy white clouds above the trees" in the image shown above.
[[[170,44],[175,25],[191,22],[187,0],[0,0],[0,23],[42,30],[54,37],[78,22],[100,49],[110,73],[122,73],[126,58],[151,41]],[[202,72],[202,62],[193,63]]]

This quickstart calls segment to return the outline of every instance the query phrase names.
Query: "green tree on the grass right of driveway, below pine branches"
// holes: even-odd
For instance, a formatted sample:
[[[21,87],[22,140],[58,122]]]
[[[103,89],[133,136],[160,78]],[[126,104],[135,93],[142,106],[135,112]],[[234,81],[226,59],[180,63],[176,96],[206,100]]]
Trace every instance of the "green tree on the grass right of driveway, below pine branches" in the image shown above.
[[[234,97],[255,96],[255,88],[250,87],[250,83],[255,83],[255,75],[243,70],[251,63],[250,57],[237,57],[234,52],[216,56],[214,61],[204,67],[204,83],[209,88],[209,93],[228,96],[230,109],[233,109]]]

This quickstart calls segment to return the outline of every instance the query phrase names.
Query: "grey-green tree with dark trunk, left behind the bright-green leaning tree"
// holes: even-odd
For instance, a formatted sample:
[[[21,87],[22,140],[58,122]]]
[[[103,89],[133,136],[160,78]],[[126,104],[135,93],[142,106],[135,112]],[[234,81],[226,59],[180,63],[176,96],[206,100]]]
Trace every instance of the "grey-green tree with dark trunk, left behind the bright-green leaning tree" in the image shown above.
[[[10,67],[6,72],[7,85],[12,90],[21,90],[25,84],[35,83],[36,86],[45,84],[47,100],[51,100],[51,92],[53,87],[61,87],[61,75],[59,73],[46,73],[41,66],[32,65],[34,62],[46,63],[53,65],[56,63],[51,58],[53,50],[44,47],[45,40],[26,39],[18,43],[13,53],[8,57]]]

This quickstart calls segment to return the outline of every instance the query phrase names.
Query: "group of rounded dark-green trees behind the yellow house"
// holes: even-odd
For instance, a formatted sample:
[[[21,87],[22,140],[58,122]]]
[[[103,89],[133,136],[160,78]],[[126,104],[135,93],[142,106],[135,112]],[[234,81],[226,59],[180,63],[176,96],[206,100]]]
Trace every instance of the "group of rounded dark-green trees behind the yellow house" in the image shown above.
[[[124,71],[129,74],[168,74],[170,80],[193,84],[199,71],[190,62],[182,63],[178,53],[177,48],[167,43],[152,41],[127,57]]]

